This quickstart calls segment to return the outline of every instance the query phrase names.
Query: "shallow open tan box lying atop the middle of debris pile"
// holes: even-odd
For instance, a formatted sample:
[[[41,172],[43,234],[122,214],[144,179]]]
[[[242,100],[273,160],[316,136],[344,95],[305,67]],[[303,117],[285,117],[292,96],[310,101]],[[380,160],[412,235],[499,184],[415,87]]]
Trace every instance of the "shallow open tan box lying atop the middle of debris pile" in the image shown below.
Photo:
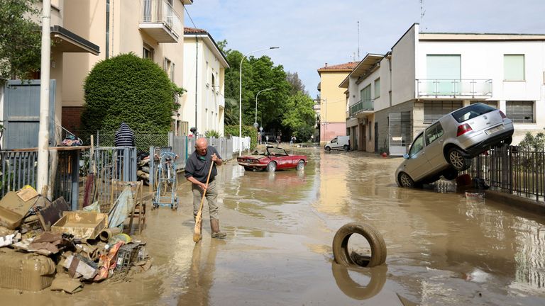
[[[95,239],[108,227],[108,215],[99,212],[65,211],[51,232],[74,234],[78,239]]]

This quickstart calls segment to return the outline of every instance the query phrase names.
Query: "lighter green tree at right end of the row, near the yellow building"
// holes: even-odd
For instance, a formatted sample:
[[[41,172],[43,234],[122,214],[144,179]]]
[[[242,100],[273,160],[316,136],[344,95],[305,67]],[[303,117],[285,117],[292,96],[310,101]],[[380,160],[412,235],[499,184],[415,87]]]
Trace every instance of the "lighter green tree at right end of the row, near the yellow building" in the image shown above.
[[[283,116],[282,125],[299,140],[309,140],[314,133],[314,101],[302,91],[287,100],[288,111]]]

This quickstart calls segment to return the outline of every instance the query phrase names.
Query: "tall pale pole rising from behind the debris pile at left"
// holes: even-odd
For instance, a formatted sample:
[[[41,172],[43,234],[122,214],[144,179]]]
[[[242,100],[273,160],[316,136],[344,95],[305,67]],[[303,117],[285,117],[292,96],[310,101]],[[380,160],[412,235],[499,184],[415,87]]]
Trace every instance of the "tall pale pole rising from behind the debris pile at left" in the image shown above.
[[[51,60],[51,0],[43,0],[42,59],[40,67],[40,130],[38,132],[38,179],[36,189],[48,196],[49,169],[49,77]]]

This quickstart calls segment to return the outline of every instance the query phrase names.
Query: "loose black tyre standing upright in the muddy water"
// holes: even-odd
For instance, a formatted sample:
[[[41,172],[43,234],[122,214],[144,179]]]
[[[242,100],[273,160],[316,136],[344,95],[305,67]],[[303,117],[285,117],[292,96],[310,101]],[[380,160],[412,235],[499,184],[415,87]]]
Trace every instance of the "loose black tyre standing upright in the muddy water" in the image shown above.
[[[348,239],[352,234],[362,235],[371,248],[371,256],[368,261],[362,261],[359,264],[354,261],[354,255],[349,254]],[[343,225],[335,234],[333,238],[333,256],[335,262],[347,267],[360,267],[360,264],[367,265],[365,267],[372,268],[374,266],[380,266],[386,261],[386,243],[382,238],[382,235],[370,225],[366,225],[361,222],[351,222]],[[358,254],[360,257],[364,257]]]

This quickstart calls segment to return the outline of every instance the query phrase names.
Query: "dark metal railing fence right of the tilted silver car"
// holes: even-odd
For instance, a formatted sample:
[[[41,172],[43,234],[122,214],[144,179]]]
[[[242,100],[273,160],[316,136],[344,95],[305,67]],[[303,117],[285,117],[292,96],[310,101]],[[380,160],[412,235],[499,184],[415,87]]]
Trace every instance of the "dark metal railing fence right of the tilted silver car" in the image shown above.
[[[518,146],[493,148],[473,159],[468,174],[506,193],[545,200],[545,152]]]

